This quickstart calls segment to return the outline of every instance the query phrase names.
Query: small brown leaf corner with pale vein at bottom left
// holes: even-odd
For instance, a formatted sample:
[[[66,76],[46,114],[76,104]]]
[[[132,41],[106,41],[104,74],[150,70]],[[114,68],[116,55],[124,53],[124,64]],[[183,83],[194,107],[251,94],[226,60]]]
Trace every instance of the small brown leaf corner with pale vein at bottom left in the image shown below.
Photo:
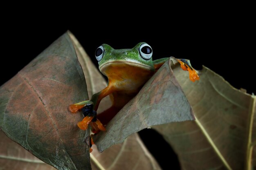
[[[56,170],[9,139],[0,130],[0,170]]]

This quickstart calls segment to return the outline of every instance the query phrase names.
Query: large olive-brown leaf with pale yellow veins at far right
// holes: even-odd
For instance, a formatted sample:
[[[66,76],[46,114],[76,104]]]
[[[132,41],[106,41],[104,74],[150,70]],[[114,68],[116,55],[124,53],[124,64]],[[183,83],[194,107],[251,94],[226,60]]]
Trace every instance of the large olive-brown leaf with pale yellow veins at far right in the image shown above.
[[[191,83],[173,72],[195,113],[195,121],[155,126],[186,170],[256,169],[256,98],[203,68]],[[251,157],[252,156],[252,157]]]

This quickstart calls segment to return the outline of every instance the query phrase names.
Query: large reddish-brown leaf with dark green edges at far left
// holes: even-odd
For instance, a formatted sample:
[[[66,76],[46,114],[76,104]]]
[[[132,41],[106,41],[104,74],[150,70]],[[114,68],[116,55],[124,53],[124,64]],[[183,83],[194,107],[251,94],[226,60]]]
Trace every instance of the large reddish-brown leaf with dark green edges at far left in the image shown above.
[[[89,132],[76,126],[82,114],[68,110],[85,99],[83,71],[66,33],[0,87],[0,128],[59,170],[90,169]]]

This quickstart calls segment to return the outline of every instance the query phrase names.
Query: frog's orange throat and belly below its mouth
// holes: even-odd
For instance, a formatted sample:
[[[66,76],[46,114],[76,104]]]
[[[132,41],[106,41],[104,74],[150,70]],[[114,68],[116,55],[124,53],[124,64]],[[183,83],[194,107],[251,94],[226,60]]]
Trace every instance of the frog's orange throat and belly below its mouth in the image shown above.
[[[129,102],[154,74],[150,69],[127,63],[112,63],[101,71],[114,89],[111,98],[117,108],[122,108]]]

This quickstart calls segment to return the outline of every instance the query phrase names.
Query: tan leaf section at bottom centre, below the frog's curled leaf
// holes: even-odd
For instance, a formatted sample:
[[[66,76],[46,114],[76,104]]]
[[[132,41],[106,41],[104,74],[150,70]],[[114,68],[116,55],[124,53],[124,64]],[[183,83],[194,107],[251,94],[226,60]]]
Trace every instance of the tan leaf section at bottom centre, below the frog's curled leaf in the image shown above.
[[[92,170],[161,170],[137,133],[102,153],[91,153]]]

